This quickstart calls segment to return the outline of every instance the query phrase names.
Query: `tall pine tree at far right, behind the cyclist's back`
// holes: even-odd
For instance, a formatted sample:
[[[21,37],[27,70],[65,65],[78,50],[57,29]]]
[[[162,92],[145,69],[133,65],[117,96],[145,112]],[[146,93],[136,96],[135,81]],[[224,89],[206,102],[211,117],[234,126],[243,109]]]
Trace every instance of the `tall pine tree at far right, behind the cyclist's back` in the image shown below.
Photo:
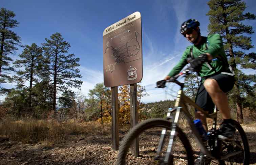
[[[224,48],[229,58],[229,63],[235,72],[235,86],[232,98],[235,99],[237,108],[237,120],[242,123],[242,92],[241,72],[239,66],[255,69],[255,53],[246,54],[242,50],[248,51],[253,48],[251,37],[254,33],[252,26],[244,25],[244,20],[255,20],[255,15],[250,12],[243,13],[246,3],[241,0],[210,0],[208,2],[210,10],[206,14],[210,16],[208,30],[210,33],[219,33],[222,36]]]

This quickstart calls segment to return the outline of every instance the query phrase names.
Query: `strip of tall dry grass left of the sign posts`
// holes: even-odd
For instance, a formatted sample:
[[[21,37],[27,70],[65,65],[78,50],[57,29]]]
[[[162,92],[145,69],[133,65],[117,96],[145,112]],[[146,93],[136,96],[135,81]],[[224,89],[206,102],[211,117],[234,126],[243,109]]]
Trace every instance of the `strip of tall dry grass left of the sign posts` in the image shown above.
[[[70,135],[109,134],[110,126],[99,122],[81,122],[68,120],[18,120],[5,119],[0,123],[0,136],[8,137],[11,141],[23,143],[60,144]]]

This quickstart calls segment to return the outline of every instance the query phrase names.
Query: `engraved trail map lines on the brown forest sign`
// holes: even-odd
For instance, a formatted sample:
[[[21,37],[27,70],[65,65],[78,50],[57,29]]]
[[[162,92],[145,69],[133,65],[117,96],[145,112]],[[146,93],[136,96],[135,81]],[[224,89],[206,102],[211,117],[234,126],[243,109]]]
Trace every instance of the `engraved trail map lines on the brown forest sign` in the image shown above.
[[[141,46],[140,46],[140,43],[138,42],[138,34],[139,33],[137,31],[135,31],[135,33],[134,33],[135,36],[122,46],[119,46],[116,48],[113,46],[107,47],[105,50],[105,53],[106,53],[107,49],[110,49],[113,52],[113,54],[111,56],[113,56],[116,63],[120,63],[120,62],[127,63],[127,62],[125,62],[125,59],[129,60],[130,57],[136,56],[138,54],[138,52],[140,51]],[[123,37],[123,39],[125,39],[125,38],[126,38],[126,36]],[[122,38],[120,38],[120,39],[122,39]],[[135,45],[133,44],[134,41],[135,41]],[[128,62],[130,62],[130,61],[128,61]]]

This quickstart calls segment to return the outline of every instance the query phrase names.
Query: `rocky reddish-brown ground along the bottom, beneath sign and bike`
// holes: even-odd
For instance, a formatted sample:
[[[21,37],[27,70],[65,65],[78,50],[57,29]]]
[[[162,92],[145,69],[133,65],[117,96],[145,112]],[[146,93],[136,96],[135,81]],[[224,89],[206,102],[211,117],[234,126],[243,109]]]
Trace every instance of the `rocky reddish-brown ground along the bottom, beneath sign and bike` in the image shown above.
[[[256,128],[254,125],[243,125],[250,143],[250,164],[256,165]],[[120,131],[120,140],[127,130]],[[187,134],[190,136],[189,131]],[[156,134],[146,133],[141,144],[156,150]],[[191,136],[190,136],[191,137]],[[191,145],[198,153],[198,147],[191,140]],[[114,165],[118,151],[111,148],[111,135],[81,136],[70,135],[61,145],[46,146],[44,144],[22,144],[21,142],[5,141],[0,143],[0,165]],[[195,154],[196,156],[196,154]],[[129,156],[129,164],[145,164],[150,154],[141,152],[138,158]],[[136,163],[135,163],[136,162]],[[178,162],[178,163],[177,163]],[[180,157],[176,164],[183,164]]]

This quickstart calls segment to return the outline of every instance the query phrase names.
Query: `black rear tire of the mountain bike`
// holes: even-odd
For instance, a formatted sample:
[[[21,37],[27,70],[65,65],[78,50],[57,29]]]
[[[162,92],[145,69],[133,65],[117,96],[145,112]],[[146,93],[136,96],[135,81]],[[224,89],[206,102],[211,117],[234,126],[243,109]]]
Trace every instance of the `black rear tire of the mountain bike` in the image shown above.
[[[249,165],[249,162],[250,162],[250,148],[249,148],[249,143],[248,143],[248,140],[247,140],[247,136],[246,136],[246,133],[244,132],[243,128],[241,127],[241,125],[233,120],[233,125],[235,126],[236,130],[238,131],[239,133],[239,136],[241,137],[241,142],[243,143],[243,162],[242,162],[242,165]],[[237,133],[236,133],[237,134]],[[236,140],[236,139],[234,139]],[[234,157],[234,158],[233,158]],[[239,158],[239,156],[235,155],[233,157],[230,157],[230,158],[233,158],[234,161]],[[229,159],[230,159],[229,158]],[[227,160],[226,160],[227,161]],[[229,160],[230,161],[230,160]],[[228,163],[225,163],[225,160],[221,160],[219,161],[219,163],[221,165],[226,165]],[[237,162],[236,162],[237,163]],[[233,163],[232,163],[233,164]],[[241,164],[241,163],[239,163]]]

